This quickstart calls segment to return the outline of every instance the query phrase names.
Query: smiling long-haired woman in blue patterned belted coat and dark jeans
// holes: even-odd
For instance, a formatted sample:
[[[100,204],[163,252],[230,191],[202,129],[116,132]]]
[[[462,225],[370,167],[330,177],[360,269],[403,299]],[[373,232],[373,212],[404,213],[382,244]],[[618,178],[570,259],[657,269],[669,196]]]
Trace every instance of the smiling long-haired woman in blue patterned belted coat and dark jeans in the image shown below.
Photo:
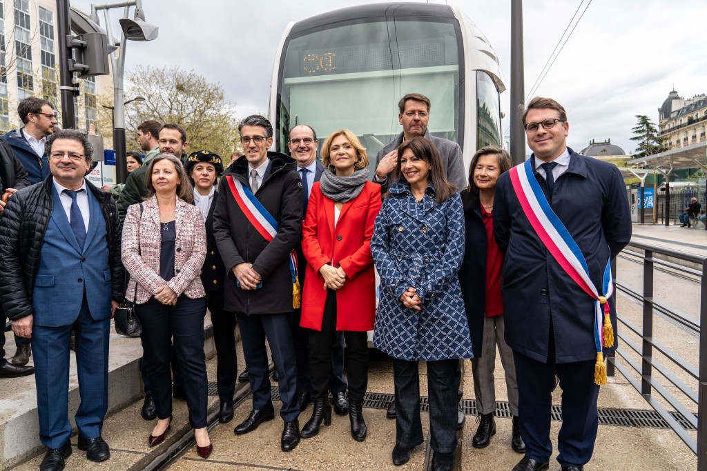
[[[380,274],[373,345],[393,359],[397,407],[394,465],[423,442],[418,366],[427,362],[435,470],[451,470],[457,446],[456,362],[472,357],[457,272],[464,212],[437,148],[414,138],[398,148],[394,182],[375,220],[370,249]]]

